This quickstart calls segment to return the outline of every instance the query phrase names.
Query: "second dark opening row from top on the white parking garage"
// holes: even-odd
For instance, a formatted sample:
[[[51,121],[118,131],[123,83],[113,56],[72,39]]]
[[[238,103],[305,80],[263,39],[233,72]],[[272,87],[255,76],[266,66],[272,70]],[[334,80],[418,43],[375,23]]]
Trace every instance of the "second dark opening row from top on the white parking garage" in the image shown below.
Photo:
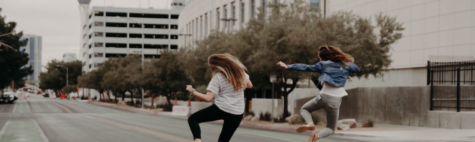
[[[94,22],[94,26],[104,26],[104,22]],[[164,28],[164,29],[178,29],[178,25],[164,25],[164,24],[143,24],[144,28]],[[89,25],[89,29],[92,27],[92,24]],[[127,23],[105,23],[105,27],[127,27]],[[129,23],[129,27],[142,28],[141,24]]]

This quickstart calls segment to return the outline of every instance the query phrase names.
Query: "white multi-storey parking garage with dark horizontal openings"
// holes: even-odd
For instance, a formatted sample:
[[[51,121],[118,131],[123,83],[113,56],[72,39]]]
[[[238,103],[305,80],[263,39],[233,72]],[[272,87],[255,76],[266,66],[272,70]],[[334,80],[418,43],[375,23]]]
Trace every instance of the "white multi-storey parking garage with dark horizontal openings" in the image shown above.
[[[100,67],[109,57],[143,53],[145,58],[160,58],[163,49],[178,49],[178,17],[184,4],[177,1],[171,9],[138,9],[88,8],[88,0],[79,0],[84,70]]]

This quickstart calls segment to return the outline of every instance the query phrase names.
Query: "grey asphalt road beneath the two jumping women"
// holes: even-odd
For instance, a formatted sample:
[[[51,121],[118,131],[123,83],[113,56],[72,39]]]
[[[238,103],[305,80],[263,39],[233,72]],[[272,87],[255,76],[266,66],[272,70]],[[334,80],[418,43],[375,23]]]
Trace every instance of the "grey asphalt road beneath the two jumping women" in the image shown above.
[[[217,142],[221,125],[200,124],[203,142]],[[308,133],[241,126],[231,142],[306,142]],[[366,140],[365,140],[366,139]],[[330,136],[318,142],[377,142]],[[186,118],[148,115],[76,100],[32,95],[0,104],[0,142],[191,142]]]

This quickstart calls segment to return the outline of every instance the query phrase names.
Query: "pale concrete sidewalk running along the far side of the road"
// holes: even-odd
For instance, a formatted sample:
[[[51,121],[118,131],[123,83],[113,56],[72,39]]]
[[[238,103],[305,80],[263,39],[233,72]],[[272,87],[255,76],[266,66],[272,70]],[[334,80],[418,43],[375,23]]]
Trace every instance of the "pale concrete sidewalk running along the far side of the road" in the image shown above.
[[[161,112],[150,109],[140,109],[137,107],[120,106],[116,104],[109,104],[103,102],[89,102],[93,104],[116,107],[124,110],[148,113],[153,115],[169,115],[177,119],[186,120],[187,116],[175,116],[171,115],[171,112]],[[222,120],[214,121],[213,123],[223,123]],[[264,128],[270,130],[285,130],[294,131],[298,125],[289,125],[286,123],[263,123],[263,122],[251,122],[243,121],[241,126]],[[333,135],[337,136],[352,136],[352,137],[368,137],[375,140],[387,140],[393,141],[470,141],[475,142],[475,129],[445,129],[445,128],[429,128],[429,127],[417,127],[406,125],[393,125],[393,124],[374,124],[373,128],[363,128],[361,123],[358,123],[357,128],[342,131],[337,130]],[[324,124],[318,124],[315,131],[320,131],[325,126]],[[310,133],[310,131],[307,131]]]

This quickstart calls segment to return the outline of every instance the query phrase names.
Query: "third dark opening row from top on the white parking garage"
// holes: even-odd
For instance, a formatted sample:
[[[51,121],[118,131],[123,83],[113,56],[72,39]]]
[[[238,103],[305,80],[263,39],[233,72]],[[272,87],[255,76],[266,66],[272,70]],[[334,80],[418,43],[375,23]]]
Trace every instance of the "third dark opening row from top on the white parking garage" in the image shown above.
[[[160,38],[168,39],[169,35],[161,34],[143,34],[144,38]],[[94,32],[94,36],[104,36],[103,32]],[[105,37],[127,37],[127,33],[105,33]],[[142,34],[129,34],[130,38],[142,38]],[[89,39],[92,38],[92,34],[89,35]],[[178,39],[178,35],[170,35],[170,39]]]

